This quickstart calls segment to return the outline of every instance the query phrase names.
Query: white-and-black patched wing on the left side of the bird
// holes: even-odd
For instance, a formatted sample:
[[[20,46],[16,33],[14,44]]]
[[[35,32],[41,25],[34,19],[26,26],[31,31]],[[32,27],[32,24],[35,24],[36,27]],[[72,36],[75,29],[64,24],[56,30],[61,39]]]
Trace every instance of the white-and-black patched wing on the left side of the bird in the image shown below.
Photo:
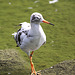
[[[21,26],[21,28],[17,32],[12,34],[14,35],[17,47],[21,45],[24,37],[28,35],[28,32],[31,29],[30,23],[27,22],[20,23],[19,26]]]

